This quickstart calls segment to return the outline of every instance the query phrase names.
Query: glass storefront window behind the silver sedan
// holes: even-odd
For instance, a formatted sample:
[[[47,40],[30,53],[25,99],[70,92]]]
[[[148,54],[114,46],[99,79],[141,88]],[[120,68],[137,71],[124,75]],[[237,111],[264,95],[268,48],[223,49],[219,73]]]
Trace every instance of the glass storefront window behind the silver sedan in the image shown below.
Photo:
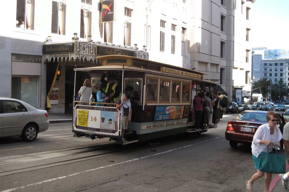
[[[12,98],[37,108],[37,77],[12,77]]]

